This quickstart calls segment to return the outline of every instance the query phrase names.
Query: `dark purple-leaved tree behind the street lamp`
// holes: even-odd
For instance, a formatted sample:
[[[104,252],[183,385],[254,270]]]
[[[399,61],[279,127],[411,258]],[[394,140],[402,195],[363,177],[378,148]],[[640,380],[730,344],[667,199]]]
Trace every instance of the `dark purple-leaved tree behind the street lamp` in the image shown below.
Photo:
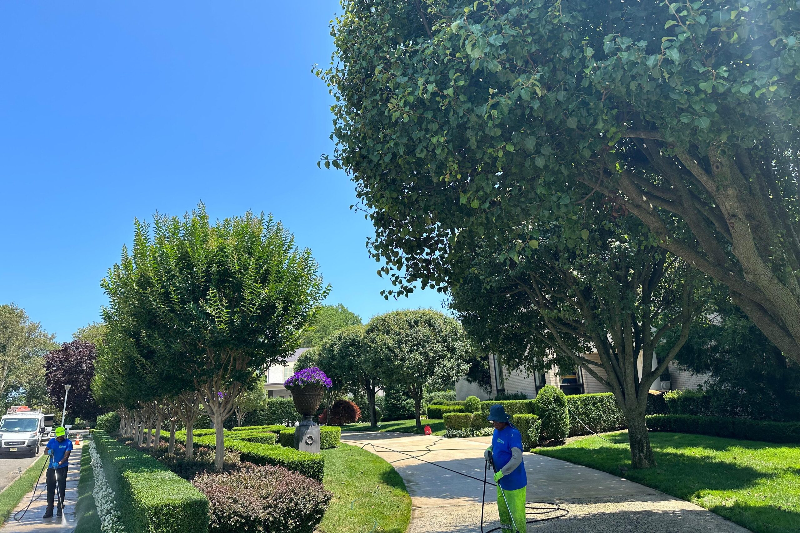
[[[45,380],[51,402],[62,405],[66,392],[64,385],[70,384],[66,410],[84,420],[94,420],[101,413],[91,391],[96,358],[94,344],[83,340],[66,342],[45,356]]]

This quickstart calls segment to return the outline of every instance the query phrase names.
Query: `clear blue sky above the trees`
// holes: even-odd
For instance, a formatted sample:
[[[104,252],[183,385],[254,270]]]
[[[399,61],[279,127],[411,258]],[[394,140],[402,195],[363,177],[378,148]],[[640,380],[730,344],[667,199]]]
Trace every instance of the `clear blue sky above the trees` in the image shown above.
[[[380,296],[353,184],[317,168],[338,2],[0,2],[0,303],[59,341],[99,319],[134,217],[273,213],[367,320]]]

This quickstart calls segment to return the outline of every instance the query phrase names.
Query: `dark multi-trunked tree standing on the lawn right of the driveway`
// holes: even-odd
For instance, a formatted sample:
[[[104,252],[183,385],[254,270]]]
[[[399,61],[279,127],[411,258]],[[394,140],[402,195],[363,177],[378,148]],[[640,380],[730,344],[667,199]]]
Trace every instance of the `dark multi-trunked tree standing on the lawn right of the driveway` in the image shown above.
[[[454,264],[461,282],[451,290],[452,307],[484,350],[529,372],[577,365],[613,392],[635,468],[655,463],[645,424],[650,385],[686,342],[707,290],[706,276],[651,243],[641,226],[626,217],[576,248],[560,244],[560,229],[542,228],[538,248],[510,265],[495,253],[498,243],[462,233]]]

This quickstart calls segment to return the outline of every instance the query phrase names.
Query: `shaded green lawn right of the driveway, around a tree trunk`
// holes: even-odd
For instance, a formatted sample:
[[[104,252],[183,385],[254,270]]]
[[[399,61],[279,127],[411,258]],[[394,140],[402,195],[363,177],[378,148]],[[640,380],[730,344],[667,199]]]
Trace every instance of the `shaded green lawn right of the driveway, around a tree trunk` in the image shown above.
[[[623,475],[630,468],[627,433],[559,447],[542,455]],[[800,531],[800,445],[650,433],[658,467],[624,477],[714,511],[756,533]],[[622,467],[622,469],[621,469]]]

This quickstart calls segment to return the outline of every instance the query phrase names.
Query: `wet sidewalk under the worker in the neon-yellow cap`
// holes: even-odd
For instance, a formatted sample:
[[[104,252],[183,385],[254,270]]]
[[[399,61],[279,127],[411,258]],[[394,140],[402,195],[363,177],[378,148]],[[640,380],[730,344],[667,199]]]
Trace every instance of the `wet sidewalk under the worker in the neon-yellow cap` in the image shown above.
[[[75,528],[75,503],[78,501],[78,479],[81,476],[81,453],[83,451],[84,441],[76,445],[70,455],[70,467],[66,476],[66,495],[64,497],[64,517],[66,520],[56,518],[55,510],[53,518],[42,519],[47,508],[47,485],[45,483],[45,475],[42,474],[42,479],[39,480],[38,485],[34,487],[34,493],[37,498],[34,503],[30,504],[30,509],[26,512],[25,517],[21,522],[14,520],[14,513],[25,509],[32,493],[28,493],[19,503],[14,513],[11,514],[6,523],[0,527],[0,533],[71,533]],[[88,451],[86,451],[88,453]]]

